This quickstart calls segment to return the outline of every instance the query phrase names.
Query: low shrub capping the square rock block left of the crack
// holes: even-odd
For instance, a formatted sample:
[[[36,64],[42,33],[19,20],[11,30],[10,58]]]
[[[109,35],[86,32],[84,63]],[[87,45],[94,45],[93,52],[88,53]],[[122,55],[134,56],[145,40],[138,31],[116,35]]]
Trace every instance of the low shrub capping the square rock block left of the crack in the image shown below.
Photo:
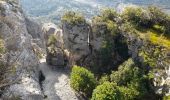
[[[66,12],[61,20],[62,22],[67,22],[70,25],[79,25],[86,22],[82,15],[72,11]]]

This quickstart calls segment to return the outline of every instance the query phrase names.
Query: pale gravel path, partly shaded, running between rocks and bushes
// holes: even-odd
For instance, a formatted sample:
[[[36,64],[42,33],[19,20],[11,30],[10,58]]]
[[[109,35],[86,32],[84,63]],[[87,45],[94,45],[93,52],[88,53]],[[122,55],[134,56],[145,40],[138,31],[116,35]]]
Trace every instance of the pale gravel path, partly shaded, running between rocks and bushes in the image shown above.
[[[45,76],[42,89],[45,100],[78,100],[69,85],[69,76],[65,69],[52,70],[45,59],[40,60],[40,70]]]

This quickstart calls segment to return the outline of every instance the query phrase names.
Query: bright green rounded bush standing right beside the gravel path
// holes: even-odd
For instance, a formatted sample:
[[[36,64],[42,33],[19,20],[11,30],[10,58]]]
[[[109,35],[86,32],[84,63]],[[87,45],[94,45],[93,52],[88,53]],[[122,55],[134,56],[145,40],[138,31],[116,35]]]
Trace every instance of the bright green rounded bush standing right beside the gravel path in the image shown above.
[[[96,87],[94,75],[87,69],[74,66],[71,72],[71,87],[85,96],[91,96],[93,89]]]

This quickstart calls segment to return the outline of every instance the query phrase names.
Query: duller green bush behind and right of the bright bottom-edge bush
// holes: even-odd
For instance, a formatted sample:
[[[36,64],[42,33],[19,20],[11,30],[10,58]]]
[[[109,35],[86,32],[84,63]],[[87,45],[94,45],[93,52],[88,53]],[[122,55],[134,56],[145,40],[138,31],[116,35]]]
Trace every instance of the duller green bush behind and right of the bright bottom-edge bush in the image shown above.
[[[134,98],[141,98],[147,93],[147,77],[141,69],[136,67],[132,59],[119,66],[118,71],[113,71],[110,78],[119,86],[132,90],[129,90],[129,93],[133,94]]]

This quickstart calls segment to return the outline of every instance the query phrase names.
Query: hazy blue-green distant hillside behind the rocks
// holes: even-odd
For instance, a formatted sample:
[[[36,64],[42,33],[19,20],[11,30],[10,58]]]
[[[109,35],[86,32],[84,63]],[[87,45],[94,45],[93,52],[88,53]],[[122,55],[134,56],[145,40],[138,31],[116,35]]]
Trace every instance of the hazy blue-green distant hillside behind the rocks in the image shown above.
[[[39,21],[57,24],[64,12],[69,10],[80,12],[91,19],[105,7],[121,11],[128,5],[155,5],[170,12],[169,3],[169,0],[21,0],[22,8],[28,16]]]

